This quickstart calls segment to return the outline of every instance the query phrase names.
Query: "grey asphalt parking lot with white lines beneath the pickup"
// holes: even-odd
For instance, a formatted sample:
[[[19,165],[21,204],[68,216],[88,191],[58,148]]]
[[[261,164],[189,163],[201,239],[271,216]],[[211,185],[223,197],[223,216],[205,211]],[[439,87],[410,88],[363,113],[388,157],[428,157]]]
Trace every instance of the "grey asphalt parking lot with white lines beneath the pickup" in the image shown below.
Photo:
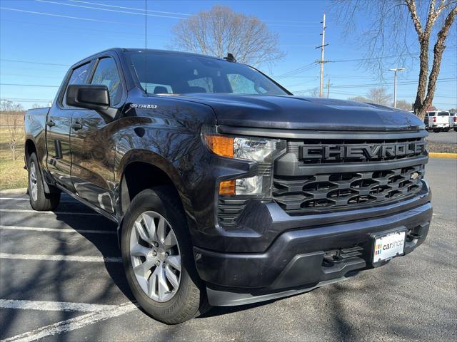
[[[456,174],[456,160],[430,160],[433,224],[408,256],[308,294],[214,308],[178,326],[132,304],[109,220],[70,197],[56,212],[37,213],[25,195],[0,195],[0,338],[456,341]]]

